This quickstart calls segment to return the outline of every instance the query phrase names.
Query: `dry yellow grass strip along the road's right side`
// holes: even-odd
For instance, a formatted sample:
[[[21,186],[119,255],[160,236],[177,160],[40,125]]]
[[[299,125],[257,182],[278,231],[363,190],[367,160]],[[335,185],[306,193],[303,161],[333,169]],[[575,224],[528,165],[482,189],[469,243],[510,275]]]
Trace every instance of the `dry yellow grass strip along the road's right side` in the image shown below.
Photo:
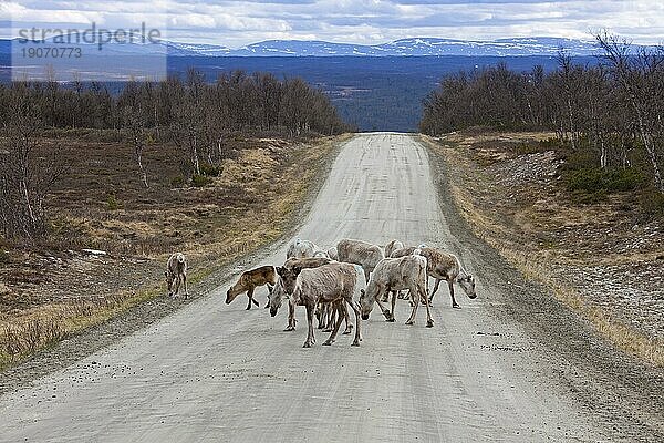
[[[486,143],[481,137],[476,136],[475,138],[479,138],[483,143]],[[528,240],[528,236],[522,235],[525,229],[532,230],[530,234],[533,235],[540,229],[533,214],[528,212],[521,213],[522,219],[513,225],[509,225],[507,222],[509,217],[506,217],[505,214],[506,208],[497,206],[487,210],[486,207],[480,207],[479,202],[481,198],[478,195],[481,192],[473,189],[471,183],[479,184],[478,188],[486,189],[489,187],[488,183],[492,177],[483,176],[483,172],[477,171],[473,162],[469,161],[468,154],[464,153],[463,150],[470,144],[468,140],[456,135],[454,143],[463,142],[464,145],[459,146],[457,144],[454,146],[448,143],[446,147],[427,137],[425,137],[425,142],[435,155],[443,156],[448,164],[455,165],[455,172],[452,173],[453,176],[450,177],[452,194],[461,215],[478,237],[497,249],[527,278],[550,288],[559,301],[589,321],[601,336],[616,348],[652,365],[664,367],[664,342],[661,339],[646,336],[623,321],[613,318],[604,309],[590,303],[572,285],[561,281],[551,272],[550,265],[552,262],[583,261],[588,258],[572,259],[573,255],[562,254],[562,251],[557,250],[551,245],[546,245],[541,241],[538,244],[531,239]],[[589,219],[601,220],[602,216],[605,218],[606,214],[602,213],[606,213],[606,207],[598,206],[585,209],[570,207],[566,212],[570,213],[569,215],[572,218],[570,223],[575,223],[575,219],[577,223],[587,224]],[[589,212],[592,213],[590,217]],[[518,213],[518,210],[515,213]],[[567,217],[564,214],[559,214],[558,216]],[[513,222],[513,218],[511,220]],[[517,230],[519,230],[518,235]],[[646,256],[650,257],[651,254],[646,254]],[[643,255],[634,254],[630,257],[625,255],[604,255],[603,257],[600,256],[600,261],[616,264],[634,261],[640,258],[643,258]]]

